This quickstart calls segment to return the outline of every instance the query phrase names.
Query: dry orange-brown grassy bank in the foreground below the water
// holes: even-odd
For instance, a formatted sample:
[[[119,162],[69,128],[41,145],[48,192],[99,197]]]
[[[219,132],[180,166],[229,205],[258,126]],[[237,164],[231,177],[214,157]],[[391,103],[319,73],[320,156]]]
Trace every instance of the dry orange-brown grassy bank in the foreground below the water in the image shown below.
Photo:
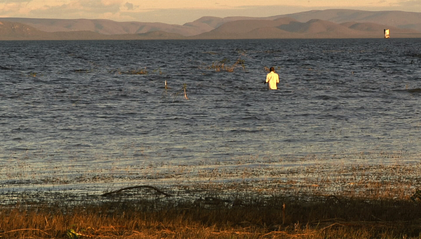
[[[284,208],[285,204],[285,208]],[[20,204],[0,209],[2,238],[420,238],[419,200],[209,196]]]

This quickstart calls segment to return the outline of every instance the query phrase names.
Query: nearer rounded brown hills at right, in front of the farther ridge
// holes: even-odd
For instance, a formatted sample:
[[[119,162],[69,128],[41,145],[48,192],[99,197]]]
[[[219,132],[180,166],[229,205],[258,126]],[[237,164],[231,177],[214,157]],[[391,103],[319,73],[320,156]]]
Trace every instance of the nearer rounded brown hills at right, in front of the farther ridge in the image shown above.
[[[271,21],[230,21],[210,32],[195,35],[194,38],[382,38],[383,30],[386,28],[389,28],[391,33],[399,38],[421,38],[421,32],[416,32],[415,30],[399,29],[375,23],[348,22],[336,24],[320,19],[299,22],[291,18]]]

